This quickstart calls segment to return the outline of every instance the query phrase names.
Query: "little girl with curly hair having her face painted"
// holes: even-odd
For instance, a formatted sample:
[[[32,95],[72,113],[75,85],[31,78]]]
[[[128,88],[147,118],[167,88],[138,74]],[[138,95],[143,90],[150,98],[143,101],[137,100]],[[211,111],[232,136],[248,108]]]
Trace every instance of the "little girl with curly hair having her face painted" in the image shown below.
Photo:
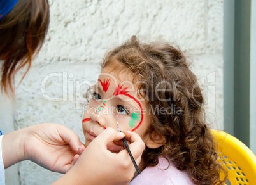
[[[108,52],[83,116],[85,147],[106,127],[145,142],[130,184],[223,184],[203,96],[185,56],[166,42],[132,37]]]

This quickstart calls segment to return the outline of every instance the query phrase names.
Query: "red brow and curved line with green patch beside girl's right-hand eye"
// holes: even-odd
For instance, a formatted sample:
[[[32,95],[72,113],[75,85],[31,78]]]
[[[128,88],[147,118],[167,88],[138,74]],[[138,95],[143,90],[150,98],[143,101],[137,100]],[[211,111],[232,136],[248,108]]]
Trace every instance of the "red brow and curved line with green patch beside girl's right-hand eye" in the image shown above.
[[[136,103],[138,103],[139,105],[139,108],[141,109],[141,118],[140,118],[140,122],[139,124],[135,127],[135,123],[136,123],[136,120],[139,121],[139,117],[138,117],[138,114],[140,113],[132,113],[134,114],[133,117],[131,118],[131,120],[129,121],[129,125],[130,125],[130,122],[131,122],[131,131],[135,131],[136,129],[138,129],[138,127],[141,125],[142,123],[142,120],[143,120],[143,109],[142,109],[142,106],[141,106],[141,103],[139,103],[138,99],[134,98],[133,96],[131,96],[130,94],[127,94],[129,92],[128,90],[128,87],[124,87],[121,86],[120,84],[118,84],[117,88],[115,89],[115,92],[114,92],[114,96],[118,96],[118,95],[125,95],[125,96],[128,96],[129,98],[133,99],[134,101],[136,101]]]

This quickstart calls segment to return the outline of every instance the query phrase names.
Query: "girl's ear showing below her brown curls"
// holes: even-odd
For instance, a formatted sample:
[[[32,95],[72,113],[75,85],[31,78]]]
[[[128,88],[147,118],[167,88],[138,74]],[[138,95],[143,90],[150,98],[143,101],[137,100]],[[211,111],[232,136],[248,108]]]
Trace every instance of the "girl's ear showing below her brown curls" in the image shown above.
[[[146,147],[148,148],[159,148],[166,143],[166,139],[164,139],[164,136],[157,133],[156,131],[150,132],[150,136],[151,137],[149,137],[146,141]]]

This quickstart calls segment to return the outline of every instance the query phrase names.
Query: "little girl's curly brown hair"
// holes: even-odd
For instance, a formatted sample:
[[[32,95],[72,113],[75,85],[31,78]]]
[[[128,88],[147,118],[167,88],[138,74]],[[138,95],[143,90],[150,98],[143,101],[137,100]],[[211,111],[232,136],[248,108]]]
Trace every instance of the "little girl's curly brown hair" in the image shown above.
[[[149,132],[166,139],[160,148],[145,149],[146,166],[157,165],[163,156],[171,158],[177,169],[186,170],[195,184],[223,184],[226,177],[221,179],[220,171],[225,169],[218,162],[217,143],[204,118],[203,95],[180,49],[167,42],[143,44],[133,36],[109,51],[101,67],[117,70],[120,64],[134,75],[134,82],[143,81],[138,89],[152,110]],[[168,108],[171,113],[159,111]]]

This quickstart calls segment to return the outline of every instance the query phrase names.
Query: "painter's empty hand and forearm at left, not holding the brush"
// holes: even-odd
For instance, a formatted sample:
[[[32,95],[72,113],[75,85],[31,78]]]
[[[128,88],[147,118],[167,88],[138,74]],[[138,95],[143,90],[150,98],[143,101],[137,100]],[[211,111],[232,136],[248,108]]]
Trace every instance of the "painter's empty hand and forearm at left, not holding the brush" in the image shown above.
[[[3,136],[4,168],[22,160],[31,160],[48,170],[66,173],[73,167],[73,157],[80,145],[79,137],[63,125],[26,127]]]

